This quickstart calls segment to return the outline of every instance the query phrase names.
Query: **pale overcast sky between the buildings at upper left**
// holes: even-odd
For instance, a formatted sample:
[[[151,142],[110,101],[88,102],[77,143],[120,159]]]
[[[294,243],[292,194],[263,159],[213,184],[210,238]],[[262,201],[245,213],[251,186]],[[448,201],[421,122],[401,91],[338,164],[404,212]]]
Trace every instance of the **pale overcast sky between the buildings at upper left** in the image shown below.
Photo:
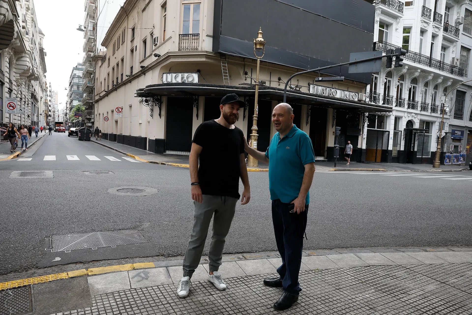
[[[103,22],[98,35],[103,38],[124,0],[100,0]],[[84,32],[76,28],[84,23],[84,0],[34,0],[38,26],[44,33],[46,81],[58,91],[59,110],[67,103],[67,90],[72,68],[84,58]],[[105,26],[105,27],[103,27]]]

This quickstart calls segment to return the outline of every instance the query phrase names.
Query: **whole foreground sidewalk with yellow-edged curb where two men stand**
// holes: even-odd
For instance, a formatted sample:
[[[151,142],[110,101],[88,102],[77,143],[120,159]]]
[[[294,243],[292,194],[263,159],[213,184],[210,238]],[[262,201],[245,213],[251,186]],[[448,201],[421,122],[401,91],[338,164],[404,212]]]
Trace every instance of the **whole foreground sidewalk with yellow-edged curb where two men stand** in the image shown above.
[[[38,315],[472,314],[472,247],[344,248],[303,255],[303,290],[284,312],[272,308],[282,290],[262,283],[281,263],[276,252],[266,252],[224,255],[219,269],[228,283],[224,291],[206,280],[208,261],[203,257],[190,295],[178,298],[182,260],[170,258],[174,260],[154,262],[154,268],[94,268],[88,274],[121,271],[0,291],[0,314],[9,314],[5,306],[17,303],[25,292]]]

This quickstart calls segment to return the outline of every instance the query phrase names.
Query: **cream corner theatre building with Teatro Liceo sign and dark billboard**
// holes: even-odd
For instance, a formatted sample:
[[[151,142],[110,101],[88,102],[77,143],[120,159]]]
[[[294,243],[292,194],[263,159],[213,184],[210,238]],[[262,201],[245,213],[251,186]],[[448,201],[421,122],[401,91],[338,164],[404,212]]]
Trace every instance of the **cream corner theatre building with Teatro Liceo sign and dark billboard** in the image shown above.
[[[371,51],[375,6],[363,0],[301,0],[300,10],[290,1],[263,2],[254,9],[249,0],[125,1],[101,43],[106,51],[94,57],[95,125],[118,142],[128,137],[130,144],[139,142],[153,152],[185,154],[198,125],[219,117],[221,97],[236,93],[247,104],[236,126],[247,136],[255,107],[252,42],[261,26],[267,44],[259,75],[257,127],[258,147],[265,150],[275,133],[271,112],[283,99],[288,77],[348,61],[352,51],[340,50],[343,45],[355,52]],[[342,5],[358,19],[333,10]],[[295,22],[283,29],[277,19],[261,21],[267,11],[288,14]],[[307,25],[325,31],[314,32],[310,41],[293,35]],[[340,74],[343,82],[315,84],[317,77]],[[351,74],[347,67],[290,82],[287,101],[294,108],[295,125],[311,137],[317,159],[333,157],[335,127],[341,127],[340,144],[350,140],[359,159],[365,157],[365,113],[392,108],[367,101],[370,82],[371,74]]]

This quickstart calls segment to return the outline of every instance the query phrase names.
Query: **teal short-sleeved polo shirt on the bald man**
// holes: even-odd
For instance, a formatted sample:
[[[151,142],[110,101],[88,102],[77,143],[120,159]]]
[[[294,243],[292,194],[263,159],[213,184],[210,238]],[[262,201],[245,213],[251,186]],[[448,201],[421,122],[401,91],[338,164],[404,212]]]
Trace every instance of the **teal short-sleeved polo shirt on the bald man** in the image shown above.
[[[269,159],[270,199],[291,203],[302,187],[304,165],[315,162],[312,140],[294,125],[282,139],[279,133],[272,137],[265,155]],[[305,204],[309,203],[310,192],[305,199]]]

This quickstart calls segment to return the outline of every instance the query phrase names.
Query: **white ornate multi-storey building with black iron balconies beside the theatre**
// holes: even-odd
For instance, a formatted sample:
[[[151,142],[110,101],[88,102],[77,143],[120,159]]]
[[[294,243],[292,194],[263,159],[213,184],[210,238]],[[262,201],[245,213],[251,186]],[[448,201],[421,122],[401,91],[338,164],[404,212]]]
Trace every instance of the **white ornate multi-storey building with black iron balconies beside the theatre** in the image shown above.
[[[464,44],[461,12],[466,0],[375,0],[373,49],[407,51],[401,68],[382,67],[372,75],[371,101],[391,106],[388,115],[370,115],[366,134],[366,161],[432,163],[438,135],[442,151],[449,144],[449,115],[459,99],[464,111],[461,85],[470,76],[470,45]],[[464,20],[464,18],[462,18]],[[385,61],[384,61],[385,65]],[[465,94],[464,94],[465,93]],[[470,95],[470,94],[469,94]],[[439,133],[441,96],[447,96],[446,134]],[[451,111],[452,109],[452,111]],[[449,136],[450,138],[450,136]],[[465,148],[465,146],[464,146]],[[457,148],[458,150],[458,148]]]

